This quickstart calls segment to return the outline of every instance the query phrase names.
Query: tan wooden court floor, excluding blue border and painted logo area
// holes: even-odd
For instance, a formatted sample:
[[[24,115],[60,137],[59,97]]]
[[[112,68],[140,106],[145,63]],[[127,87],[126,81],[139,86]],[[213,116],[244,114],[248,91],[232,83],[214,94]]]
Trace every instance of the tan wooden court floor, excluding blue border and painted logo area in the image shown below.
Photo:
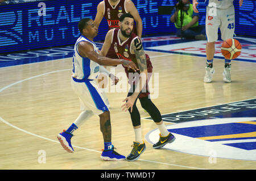
[[[222,81],[223,60],[215,59],[212,83],[204,83],[205,58],[146,52],[159,73],[159,96],[152,99],[162,114],[255,98],[256,64],[232,62],[232,83]],[[72,58],[0,69],[0,169],[255,169],[255,161],[217,159],[176,151],[147,149],[135,162],[100,159],[103,148],[99,119],[93,116],[72,138],[75,153],[65,151],[57,134],[67,129],[80,113],[71,89]],[[115,72],[123,72],[117,66]],[[254,76],[253,76],[254,75]],[[122,112],[126,92],[108,92],[112,142],[128,155],[134,141],[129,112]],[[147,117],[137,103],[141,117]],[[156,128],[142,119],[142,134]],[[166,125],[171,123],[166,123]],[[46,159],[43,159],[46,155]]]

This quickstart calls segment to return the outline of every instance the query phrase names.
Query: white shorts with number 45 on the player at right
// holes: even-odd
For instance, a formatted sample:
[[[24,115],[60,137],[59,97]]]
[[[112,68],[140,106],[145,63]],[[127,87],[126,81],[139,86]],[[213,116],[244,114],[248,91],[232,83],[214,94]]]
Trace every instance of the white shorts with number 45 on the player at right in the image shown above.
[[[218,28],[220,27],[221,39],[232,39],[235,29],[234,6],[228,9],[217,9],[207,6],[207,16],[205,19],[205,31],[207,41],[213,42],[218,40]]]

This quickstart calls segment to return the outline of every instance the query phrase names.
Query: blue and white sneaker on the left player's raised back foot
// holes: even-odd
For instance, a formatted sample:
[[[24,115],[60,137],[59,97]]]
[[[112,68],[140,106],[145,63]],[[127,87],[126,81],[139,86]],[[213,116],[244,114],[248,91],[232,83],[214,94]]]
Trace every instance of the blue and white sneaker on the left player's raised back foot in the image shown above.
[[[65,129],[62,133],[58,134],[57,138],[60,141],[61,146],[64,150],[68,151],[69,153],[74,153],[74,149],[71,145],[71,138],[73,134],[66,132]]]

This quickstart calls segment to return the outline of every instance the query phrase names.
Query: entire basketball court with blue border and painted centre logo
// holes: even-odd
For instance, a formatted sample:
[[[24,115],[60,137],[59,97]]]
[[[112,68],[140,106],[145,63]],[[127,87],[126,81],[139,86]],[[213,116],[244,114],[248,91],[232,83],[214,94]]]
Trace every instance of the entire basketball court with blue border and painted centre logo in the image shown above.
[[[184,41],[175,36],[143,39],[154,67],[152,102],[176,140],[162,149],[152,149],[159,132],[138,102],[147,149],[134,162],[100,159],[103,139],[97,116],[72,137],[75,153],[65,151],[57,140],[57,134],[80,113],[79,99],[71,88],[72,46],[0,56],[0,169],[256,169],[255,39],[237,40],[242,53],[232,61],[232,82],[222,80],[224,60],[217,42],[216,72],[212,83],[204,83],[206,41]],[[124,73],[120,65],[108,70],[120,77]],[[127,156],[134,131],[129,112],[123,112],[121,105],[129,89],[122,81],[118,84],[105,91],[113,145]]]

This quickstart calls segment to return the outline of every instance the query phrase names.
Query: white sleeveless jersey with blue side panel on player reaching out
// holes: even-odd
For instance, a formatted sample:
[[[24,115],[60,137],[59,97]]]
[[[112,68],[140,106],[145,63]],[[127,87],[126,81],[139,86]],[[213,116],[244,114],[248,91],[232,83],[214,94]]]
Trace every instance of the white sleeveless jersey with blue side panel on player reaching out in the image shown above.
[[[84,36],[80,36],[77,39],[75,47],[74,47],[74,54],[73,54],[73,77],[79,80],[86,80],[86,79],[96,79],[98,74],[100,73],[100,65],[97,62],[90,60],[87,57],[82,57],[77,49],[77,45],[81,41],[87,41],[93,45],[94,51],[99,53],[96,44],[93,41],[88,40]]]

